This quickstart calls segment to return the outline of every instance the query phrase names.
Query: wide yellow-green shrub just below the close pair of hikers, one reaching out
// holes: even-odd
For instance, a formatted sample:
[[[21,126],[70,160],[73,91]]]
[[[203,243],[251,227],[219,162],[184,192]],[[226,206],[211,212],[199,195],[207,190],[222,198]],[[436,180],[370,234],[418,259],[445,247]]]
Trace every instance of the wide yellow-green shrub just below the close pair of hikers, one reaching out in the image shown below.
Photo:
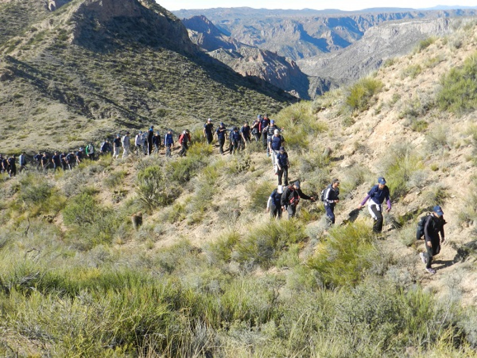
[[[271,221],[255,227],[234,247],[233,259],[269,268],[291,244],[305,239],[304,227],[296,220]]]

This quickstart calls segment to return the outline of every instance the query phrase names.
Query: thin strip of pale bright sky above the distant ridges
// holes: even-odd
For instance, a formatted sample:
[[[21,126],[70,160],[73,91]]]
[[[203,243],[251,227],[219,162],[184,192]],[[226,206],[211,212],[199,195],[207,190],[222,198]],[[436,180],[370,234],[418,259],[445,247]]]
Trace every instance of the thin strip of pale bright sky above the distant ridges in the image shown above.
[[[369,7],[410,7],[427,8],[437,5],[460,5],[477,6],[476,0],[335,0],[335,1],[313,1],[313,0],[156,0],[159,5],[168,10],[180,9],[208,9],[211,7],[240,7],[247,6],[253,8],[267,9],[339,9],[339,10],[361,10]]]

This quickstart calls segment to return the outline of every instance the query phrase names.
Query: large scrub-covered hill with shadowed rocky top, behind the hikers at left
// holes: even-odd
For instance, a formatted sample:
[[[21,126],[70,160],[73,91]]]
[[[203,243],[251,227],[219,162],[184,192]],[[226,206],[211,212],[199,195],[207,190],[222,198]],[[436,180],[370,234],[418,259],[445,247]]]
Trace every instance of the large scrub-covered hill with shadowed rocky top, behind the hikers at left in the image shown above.
[[[151,123],[199,125],[224,107],[241,122],[296,100],[199,51],[152,0],[74,0],[54,11],[41,0],[2,1],[0,34],[4,151],[75,146]]]

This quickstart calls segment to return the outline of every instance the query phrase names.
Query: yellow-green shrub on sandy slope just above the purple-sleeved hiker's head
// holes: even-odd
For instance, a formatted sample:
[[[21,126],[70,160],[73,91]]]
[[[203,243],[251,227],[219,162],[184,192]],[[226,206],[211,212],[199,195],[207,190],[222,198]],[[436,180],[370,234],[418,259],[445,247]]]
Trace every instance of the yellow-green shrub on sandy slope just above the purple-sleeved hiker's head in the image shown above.
[[[391,148],[389,154],[381,160],[381,166],[391,197],[394,198],[406,195],[411,186],[415,185],[413,176],[424,168],[422,159],[406,143]]]

